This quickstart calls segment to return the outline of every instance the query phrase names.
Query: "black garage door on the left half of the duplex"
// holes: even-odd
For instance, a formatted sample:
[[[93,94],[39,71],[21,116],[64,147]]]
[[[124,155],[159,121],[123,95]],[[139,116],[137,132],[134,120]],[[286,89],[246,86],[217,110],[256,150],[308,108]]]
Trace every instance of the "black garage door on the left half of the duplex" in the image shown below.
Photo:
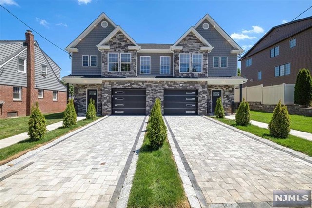
[[[112,89],[112,114],[145,115],[146,89]]]

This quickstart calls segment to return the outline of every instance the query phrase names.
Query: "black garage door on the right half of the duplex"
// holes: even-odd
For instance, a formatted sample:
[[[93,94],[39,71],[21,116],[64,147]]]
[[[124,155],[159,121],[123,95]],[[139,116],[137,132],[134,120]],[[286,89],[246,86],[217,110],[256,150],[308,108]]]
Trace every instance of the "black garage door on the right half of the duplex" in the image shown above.
[[[197,90],[164,90],[165,115],[197,115]]]

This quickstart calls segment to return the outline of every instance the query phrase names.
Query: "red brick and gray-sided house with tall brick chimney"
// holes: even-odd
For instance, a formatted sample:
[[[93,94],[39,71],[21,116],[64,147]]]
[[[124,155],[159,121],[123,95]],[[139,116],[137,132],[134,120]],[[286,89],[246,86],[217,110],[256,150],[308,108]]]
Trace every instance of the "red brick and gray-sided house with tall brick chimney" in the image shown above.
[[[60,67],[34,41],[30,30],[25,34],[26,40],[0,40],[0,118],[30,115],[36,101],[42,113],[66,108]]]

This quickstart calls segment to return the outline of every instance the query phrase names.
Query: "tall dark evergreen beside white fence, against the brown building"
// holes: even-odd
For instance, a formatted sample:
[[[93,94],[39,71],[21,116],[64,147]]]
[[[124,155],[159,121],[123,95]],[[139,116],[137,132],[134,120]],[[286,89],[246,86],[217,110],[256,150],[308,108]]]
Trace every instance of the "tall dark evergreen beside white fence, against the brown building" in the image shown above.
[[[297,75],[294,87],[294,103],[299,105],[311,105],[312,102],[312,77],[310,71],[301,69]]]

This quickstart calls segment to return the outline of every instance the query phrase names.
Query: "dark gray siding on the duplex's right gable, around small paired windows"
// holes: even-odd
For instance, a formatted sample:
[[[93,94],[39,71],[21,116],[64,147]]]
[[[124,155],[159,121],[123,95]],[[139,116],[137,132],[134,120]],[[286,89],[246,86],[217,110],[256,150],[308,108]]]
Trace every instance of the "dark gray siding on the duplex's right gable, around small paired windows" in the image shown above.
[[[202,24],[209,24],[208,30],[204,30]],[[208,54],[208,76],[234,76],[237,72],[236,54],[231,54],[233,46],[207,20],[203,21],[196,30],[215,48]],[[227,68],[213,68],[213,57],[228,57]]]

